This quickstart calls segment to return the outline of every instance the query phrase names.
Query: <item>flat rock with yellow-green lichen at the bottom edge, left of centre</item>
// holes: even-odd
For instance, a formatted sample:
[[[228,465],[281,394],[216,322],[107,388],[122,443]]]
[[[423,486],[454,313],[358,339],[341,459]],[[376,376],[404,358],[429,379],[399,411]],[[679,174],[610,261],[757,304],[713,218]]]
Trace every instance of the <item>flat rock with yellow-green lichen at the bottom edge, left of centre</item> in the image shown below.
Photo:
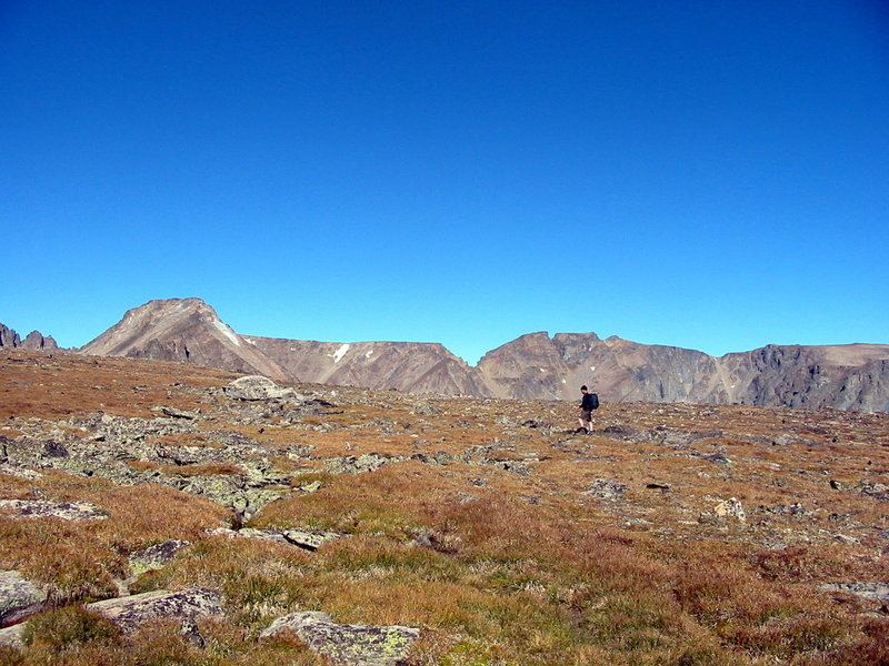
[[[420,629],[402,626],[340,625],[326,613],[293,613],[279,617],[261,638],[291,629],[313,653],[343,666],[398,666]]]

